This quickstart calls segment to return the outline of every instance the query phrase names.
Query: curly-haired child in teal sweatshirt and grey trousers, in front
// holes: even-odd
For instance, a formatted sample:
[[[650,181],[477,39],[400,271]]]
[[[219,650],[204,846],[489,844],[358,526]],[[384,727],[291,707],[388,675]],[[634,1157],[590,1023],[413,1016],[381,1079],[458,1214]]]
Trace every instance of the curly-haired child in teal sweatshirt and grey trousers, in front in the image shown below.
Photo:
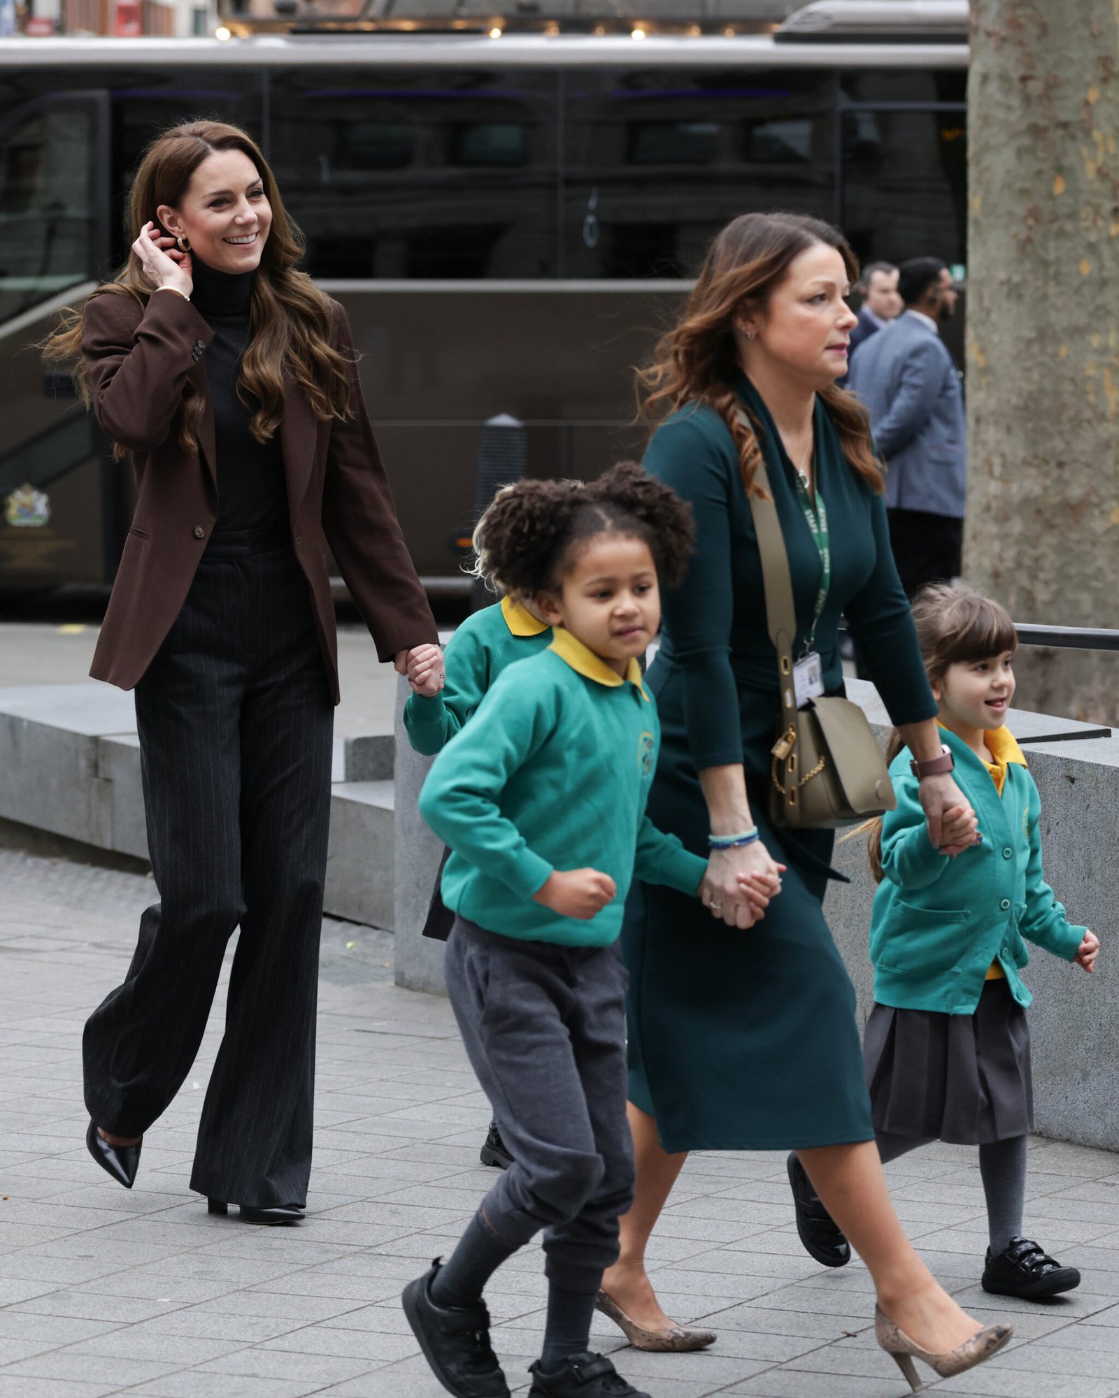
[[[645,815],[659,724],[638,665],[660,625],[657,575],[681,577],[692,526],[636,466],[550,482],[547,500],[529,484],[491,507],[485,542],[498,586],[534,600],[553,642],[498,677],[420,795],[452,850],[448,993],[513,1163],[403,1303],[449,1392],[506,1398],[483,1288],[543,1229],[530,1398],[642,1398],[587,1345],[632,1195],[625,893],[635,875],[698,893],[706,870]]]

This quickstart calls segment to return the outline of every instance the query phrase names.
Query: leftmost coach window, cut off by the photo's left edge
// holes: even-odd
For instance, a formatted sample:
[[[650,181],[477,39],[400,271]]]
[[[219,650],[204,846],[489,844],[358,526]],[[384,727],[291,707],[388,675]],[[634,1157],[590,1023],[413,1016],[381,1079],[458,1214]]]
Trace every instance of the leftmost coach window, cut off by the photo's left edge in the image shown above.
[[[94,120],[84,102],[31,102],[0,122],[0,322],[91,274]]]

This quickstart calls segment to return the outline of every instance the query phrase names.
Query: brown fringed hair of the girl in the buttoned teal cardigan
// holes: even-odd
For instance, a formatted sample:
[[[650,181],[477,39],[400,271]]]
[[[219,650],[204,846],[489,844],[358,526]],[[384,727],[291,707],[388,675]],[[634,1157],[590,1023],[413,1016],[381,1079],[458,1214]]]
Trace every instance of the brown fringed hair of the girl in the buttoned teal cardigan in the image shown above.
[[[971,587],[930,583],[913,601],[913,625],[930,684],[940,684],[950,665],[990,660],[1018,649],[1018,633],[1010,612]],[[885,745],[885,761],[892,762],[905,744],[897,728]],[[883,881],[883,822],[869,825],[870,871]]]

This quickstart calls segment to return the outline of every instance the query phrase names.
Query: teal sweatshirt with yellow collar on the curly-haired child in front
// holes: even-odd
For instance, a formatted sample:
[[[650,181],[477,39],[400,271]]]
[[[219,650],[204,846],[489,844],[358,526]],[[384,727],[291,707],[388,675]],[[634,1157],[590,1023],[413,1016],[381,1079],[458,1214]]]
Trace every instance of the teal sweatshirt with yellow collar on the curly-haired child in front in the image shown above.
[[[491,932],[608,946],[629,884],[695,895],[706,861],[645,814],[660,745],[641,668],[617,675],[569,632],[511,665],[432,763],[420,814],[453,851],[443,902]],[[582,921],[533,902],[553,870],[596,868],[617,884]]]

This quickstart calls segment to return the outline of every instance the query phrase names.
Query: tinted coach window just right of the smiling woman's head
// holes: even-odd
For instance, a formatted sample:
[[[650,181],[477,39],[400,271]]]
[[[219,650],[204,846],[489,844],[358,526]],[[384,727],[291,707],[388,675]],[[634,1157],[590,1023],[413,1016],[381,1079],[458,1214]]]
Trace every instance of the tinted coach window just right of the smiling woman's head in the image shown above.
[[[273,77],[273,165],[312,275],[555,275],[551,74],[354,78]]]

